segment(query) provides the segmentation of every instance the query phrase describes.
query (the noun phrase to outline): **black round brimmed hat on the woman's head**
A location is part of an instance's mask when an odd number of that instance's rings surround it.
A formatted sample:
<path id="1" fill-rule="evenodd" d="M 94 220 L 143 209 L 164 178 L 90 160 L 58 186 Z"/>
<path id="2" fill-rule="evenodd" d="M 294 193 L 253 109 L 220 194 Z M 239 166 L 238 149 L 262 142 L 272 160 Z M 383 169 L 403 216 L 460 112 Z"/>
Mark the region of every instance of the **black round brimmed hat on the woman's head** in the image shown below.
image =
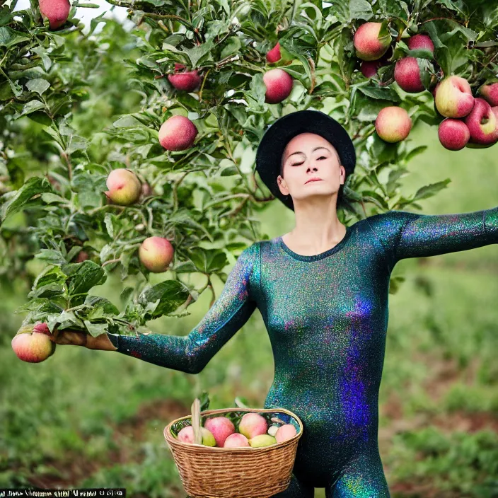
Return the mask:
<path id="1" fill-rule="evenodd" d="M 298 110 L 279 117 L 263 135 L 256 152 L 256 170 L 270 192 L 286 207 L 294 211 L 290 195 L 282 195 L 277 183 L 280 161 L 284 149 L 291 139 L 301 133 L 315 133 L 329 141 L 339 154 L 346 175 L 354 171 L 357 162 L 352 139 L 347 131 L 333 117 L 320 110 Z"/>

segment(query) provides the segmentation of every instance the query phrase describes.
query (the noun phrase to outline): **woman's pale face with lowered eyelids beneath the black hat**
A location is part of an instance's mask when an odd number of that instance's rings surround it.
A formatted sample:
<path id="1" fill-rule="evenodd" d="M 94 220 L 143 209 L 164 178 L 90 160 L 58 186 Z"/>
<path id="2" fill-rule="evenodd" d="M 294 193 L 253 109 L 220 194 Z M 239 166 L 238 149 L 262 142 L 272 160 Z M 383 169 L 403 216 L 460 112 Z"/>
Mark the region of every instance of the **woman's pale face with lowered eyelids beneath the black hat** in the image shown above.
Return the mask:
<path id="1" fill-rule="evenodd" d="M 337 194 L 346 170 L 335 148 L 320 135 L 301 133 L 291 139 L 282 155 L 282 173 L 277 178 L 280 192 L 296 204 L 313 196 Z M 311 178 L 320 181 L 310 182 Z"/>

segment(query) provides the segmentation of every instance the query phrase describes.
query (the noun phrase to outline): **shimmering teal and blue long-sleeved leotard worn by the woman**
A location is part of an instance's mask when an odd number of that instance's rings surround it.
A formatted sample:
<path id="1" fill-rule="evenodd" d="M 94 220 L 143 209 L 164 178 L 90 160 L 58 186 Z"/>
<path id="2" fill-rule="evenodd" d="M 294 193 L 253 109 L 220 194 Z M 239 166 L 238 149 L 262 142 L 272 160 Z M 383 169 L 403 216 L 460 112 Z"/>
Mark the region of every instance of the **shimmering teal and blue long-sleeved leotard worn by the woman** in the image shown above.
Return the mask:
<path id="1" fill-rule="evenodd" d="M 378 390 L 396 262 L 498 243 L 498 207 L 390 211 L 347 227 L 333 248 L 299 255 L 281 237 L 246 248 L 219 299 L 187 336 L 112 336 L 117 351 L 199 373 L 257 307 L 274 354 L 265 408 L 303 422 L 291 484 L 278 498 L 389 497 L 378 452 Z"/>

